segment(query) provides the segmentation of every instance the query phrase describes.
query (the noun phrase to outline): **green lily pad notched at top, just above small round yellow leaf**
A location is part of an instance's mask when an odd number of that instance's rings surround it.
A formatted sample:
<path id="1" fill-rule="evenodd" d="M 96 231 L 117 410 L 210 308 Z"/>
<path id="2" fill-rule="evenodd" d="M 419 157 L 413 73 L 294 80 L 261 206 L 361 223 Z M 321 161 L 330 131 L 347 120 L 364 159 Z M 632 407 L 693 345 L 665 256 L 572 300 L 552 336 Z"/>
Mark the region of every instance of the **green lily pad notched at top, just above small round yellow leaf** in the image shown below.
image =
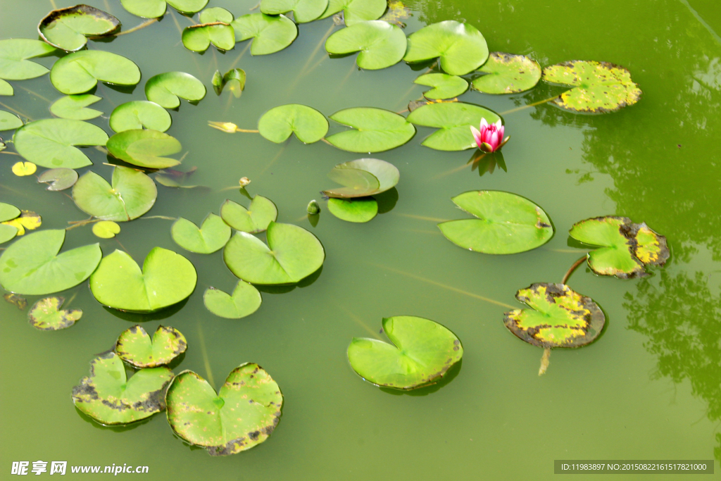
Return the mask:
<path id="1" fill-rule="evenodd" d="M 73 187 L 73 200 L 81 211 L 105 221 L 131 221 L 155 203 L 155 182 L 130 167 L 115 167 L 112 186 L 95 172 L 87 172 Z"/>

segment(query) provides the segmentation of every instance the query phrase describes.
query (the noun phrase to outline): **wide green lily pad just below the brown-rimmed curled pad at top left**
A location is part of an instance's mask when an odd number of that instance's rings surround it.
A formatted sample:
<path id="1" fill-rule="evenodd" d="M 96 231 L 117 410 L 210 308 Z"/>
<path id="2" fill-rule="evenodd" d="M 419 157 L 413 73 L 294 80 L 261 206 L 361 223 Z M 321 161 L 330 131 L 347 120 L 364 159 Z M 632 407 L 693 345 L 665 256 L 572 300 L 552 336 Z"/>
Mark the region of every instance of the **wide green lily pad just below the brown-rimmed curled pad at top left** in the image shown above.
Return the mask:
<path id="1" fill-rule="evenodd" d="M 103 50 L 80 50 L 56 61 L 50 81 L 66 95 L 84 94 L 98 81 L 116 85 L 136 85 L 140 69 L 123 56 Z"/>

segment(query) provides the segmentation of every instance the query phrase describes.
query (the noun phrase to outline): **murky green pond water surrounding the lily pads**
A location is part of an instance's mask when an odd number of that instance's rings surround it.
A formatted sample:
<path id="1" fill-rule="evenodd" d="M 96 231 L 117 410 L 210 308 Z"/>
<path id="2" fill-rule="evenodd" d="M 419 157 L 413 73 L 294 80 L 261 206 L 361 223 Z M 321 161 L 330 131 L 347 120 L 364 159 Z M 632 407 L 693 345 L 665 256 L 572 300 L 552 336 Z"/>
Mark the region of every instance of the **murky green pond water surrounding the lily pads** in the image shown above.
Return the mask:
<path id="1" fill-rule="evenodd" d="M 74 2 L 58 1 L 58 6 Z M 141 19 L 115 0 L 94 6 L 126 27 Z M 244 14 L 255 0 L 211 0 Z M 572 115 L 549 104 L 503 114 L 512 136 L 503 149 L 508 172 L 463 167 L 471 151 L 444 153 L 420 146 L 430 129 L 419 128 L 406 146 L 375 154 L 401 172 L 386 213 L 368 224 L 332 217 L 322 203 L 317 226 L 305 206 L 329 187 L 338 162 L 358 158 L 322 142 L 284 146 L 257 134 L 227 134 L 208 120 L 255 128 L 276 105 L 298 102 L 325 115 L 345 107 L 400 111 L 424 87 L 404 63 L 358 71 L 354 56 L 320 61 L 298 78 L 332 25 L 301 25 L 290 48 L 271 56 L 242 54 L 236 66 L 248 81 L 239 100 L 213 92 L 198 105 L 183 102 L 172 136 L 188 154 L 183 167 L 198 167 L 192 182 L 211 190 L 159 186 L 148 215 L 184 216 L 199 223 L 218 213 L 226 198 L 247 202 L 237 190 L 272 199 L 278 220 L 311 230 L 327 259 L 317 280 L 291 291 L 262 293 L 251 317 L 227 320 L 203 306 L 208 286 L 230 291 L 236 279 L 221 252 L 194 255 L 170 237 L 170 221 L 122 224 L 116 239 L 101 241 L 105 255 L 125 248 L 140 261 L 152 247 L 182 252 L 198 270 L 198 287 L 180 309 L 155 315 L 122 314 L 100 306 L 87 283 L 71 306 L 83 318 L 68 330 L 40 332 L 26 313 L 0 303 L 0 469 L 12 461 L 67 461 L 71 465 L 149 466 L 152 480 L 548 480 L 554 459 L 721 459 L 721 11 L 713 0 L 512 0 L 408 1 L 410 34 L 445 19 L 464 20 L 485 35 L 490 50 L 523 53 L 541 66 L 572 59 L 626 66 L 644 94 L 637 105 L 603 116 Z M 552 4 L 553 3 L 553 4 Z M 552 4 L 552 5 L 551 5 Z M 1 37 L 35 37 L 44 0 L 7 0 Z M 180 43 L 187 19 L 162 22 L 118 37 L 90 42 L 128 56 L 143 81 L 133 94 L 100 86 L 94 108 L 108 115 L 128 100 L 143 100 L 143 84 L 164 71 L 186 71 L 209 87 L 213 71 L 234 65 L 246 44 L 225 54 L 191 53 Z M 53 58 L 41 59 L 50 66 Z M 13 82 L 14 97 L 1 102 L 32 119 L 46 118 L 60 97 L 48 76 Z M 557 94 L 539 85 L 526 94 L 461 100 L 508 112 Z M 107 120 L 92 123 L 107 128 Z M 332 131 L 340 131 L 332 125 Z M 7 136 L 6 136 L 7 138 Z M 85 149 L 92 169 L 109 177 L 105 156 Z M 34 177 L 14 177 L 17 156 L 0 154 L 1 200 L 43 216 L 43 228 L 84 219 L 62 193 L 46 193 Z M 483 175 L 479 175 L 481 170 Z M 467 252 L 448 242 L 433 220 L 461 219 L 450 198 L 466 190 L 505 190 L 534 200 L 551 217 L 556 234 L 543 247 L 512 256 Z M 559 282 L 583 251 L 569 247 L 567 230 L 593 216 L 624 215 L 665 234 L 672 257 L 650 277 L 621 281 L 583 268 L 569 284 L 592 296 L 607 316 L 606 330 L 588 347 L 554 350 L 545 376 L 541 350 L 503 327 L 503 312 L 520 306 L 519 288 Z M 96 242 L 89 227 L 68 232 L 66 247 Z M 122 246 L 121 247 L 121 244 Z M 30 302 L 36 298 L 30 297 Z M 440 389 L 384 392 L 356 376 L 345 358 L 353 336 L 376 336 L 381 318 L 412 314 L 453 330 L 464 345 L 461 369 Z M 240 363 L 259 363 L 285 396 L 278 428 L 261 446 L 225 458 L 189 448 L 175 438 L 164 414 L 128 428 L 105 428 L 81 415 L 70 393 L 94 354 L 107 350 L 135 322 L 181 330 L 189 343 L 176 372 L 191 369 L 219 387 Z M 31 464 L 32 465 L 32 464 Z M 45 473 L 45 475 L 48 475 Z M 131 475 L 120 475 L 129 477 Z M 68 473 L 71 479 L 73 475 Z M 92 479 L 92 475 L 76 475 Z M 103 477 L 97 475 L 96 477 Z M 620 481 L 633 476 L 599 475 Z M 635 478 L 635 477 L 634 477 Z M 650 479 L 650 478 L 649 478 Z M 653 479 L 676 479 L 654 476 Z M 705 478 L 704 478 L 705 479 Z"/>

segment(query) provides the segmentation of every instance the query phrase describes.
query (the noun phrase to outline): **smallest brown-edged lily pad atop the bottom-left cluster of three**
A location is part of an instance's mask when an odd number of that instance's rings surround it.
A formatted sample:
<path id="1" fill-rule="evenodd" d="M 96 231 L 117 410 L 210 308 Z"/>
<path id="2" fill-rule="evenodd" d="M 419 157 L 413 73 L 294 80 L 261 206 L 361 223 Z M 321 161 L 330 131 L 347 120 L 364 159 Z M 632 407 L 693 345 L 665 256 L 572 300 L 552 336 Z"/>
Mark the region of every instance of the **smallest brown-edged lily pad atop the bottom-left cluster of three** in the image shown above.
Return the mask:
<path id="1" fill-rule="evenodd" d="M 115 353 L 135 368 L 156 368 L 169 364 L 185 353 L 187 341 L 177 329 L 158 326 L 153 339 L 140 325 L 123 331 L 115 343 Z"/>

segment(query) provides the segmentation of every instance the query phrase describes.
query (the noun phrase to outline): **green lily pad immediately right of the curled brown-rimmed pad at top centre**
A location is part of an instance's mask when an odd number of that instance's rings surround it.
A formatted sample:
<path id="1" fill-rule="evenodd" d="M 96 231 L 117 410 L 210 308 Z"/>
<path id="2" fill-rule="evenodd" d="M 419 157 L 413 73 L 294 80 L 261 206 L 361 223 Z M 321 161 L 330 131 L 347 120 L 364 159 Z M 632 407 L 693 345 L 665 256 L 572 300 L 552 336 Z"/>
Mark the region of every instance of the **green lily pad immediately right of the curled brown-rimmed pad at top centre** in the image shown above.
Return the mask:
<path id="1" fill-rule="evenodd" d="M 250 45 L 252 55 L 267 55 L 288 47 L 298 36 L 298 27 L 285 15 L 271 17 L 255 13 L 234 19 L 235 39 L 242 42 L 253 39 Z"/>

